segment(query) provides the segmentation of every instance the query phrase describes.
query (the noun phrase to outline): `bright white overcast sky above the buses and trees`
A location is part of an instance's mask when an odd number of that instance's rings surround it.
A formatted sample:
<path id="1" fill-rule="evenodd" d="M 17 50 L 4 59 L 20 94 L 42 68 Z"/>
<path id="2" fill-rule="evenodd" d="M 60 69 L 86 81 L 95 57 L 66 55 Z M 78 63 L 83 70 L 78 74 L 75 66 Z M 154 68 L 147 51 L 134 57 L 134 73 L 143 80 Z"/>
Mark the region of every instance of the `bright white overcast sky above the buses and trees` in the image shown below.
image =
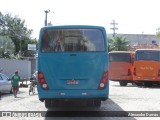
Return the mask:
<path id="1" fill-rule="evenodd" d="M 45 12 L 53 25 L 101 25 L 112 33 L 115 20 L 119 34 L 156 34 L 160 27 L 159 0 L 0 0 L 0 11 L 18 15 L 38 38 Z"/>

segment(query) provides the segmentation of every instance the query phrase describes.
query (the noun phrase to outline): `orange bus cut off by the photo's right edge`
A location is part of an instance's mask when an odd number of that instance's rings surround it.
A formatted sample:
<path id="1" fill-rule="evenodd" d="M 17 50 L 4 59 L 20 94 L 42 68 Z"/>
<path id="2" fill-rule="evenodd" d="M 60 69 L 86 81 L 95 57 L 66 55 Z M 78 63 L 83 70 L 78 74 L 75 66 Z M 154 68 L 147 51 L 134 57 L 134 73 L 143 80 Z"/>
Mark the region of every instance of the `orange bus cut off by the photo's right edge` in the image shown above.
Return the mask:
<path id="1" fill-rule="evenodd" d="M 135 51 L 133 80 L 137 85 L 152 86 L 160 82 L 160 51 L 138 49 Z"/>

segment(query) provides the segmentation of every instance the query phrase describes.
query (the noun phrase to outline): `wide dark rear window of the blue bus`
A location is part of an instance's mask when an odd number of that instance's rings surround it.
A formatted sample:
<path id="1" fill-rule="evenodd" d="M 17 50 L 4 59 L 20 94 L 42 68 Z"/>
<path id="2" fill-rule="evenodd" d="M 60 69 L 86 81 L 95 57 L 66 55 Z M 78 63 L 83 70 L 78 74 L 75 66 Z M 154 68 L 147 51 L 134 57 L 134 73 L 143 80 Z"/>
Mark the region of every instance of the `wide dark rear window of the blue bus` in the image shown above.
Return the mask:
<path id="1" fill-rule="evenodd" d="M 46 29 L 42 31 L 41 52 L 105 51 L 99 29 Z"/>

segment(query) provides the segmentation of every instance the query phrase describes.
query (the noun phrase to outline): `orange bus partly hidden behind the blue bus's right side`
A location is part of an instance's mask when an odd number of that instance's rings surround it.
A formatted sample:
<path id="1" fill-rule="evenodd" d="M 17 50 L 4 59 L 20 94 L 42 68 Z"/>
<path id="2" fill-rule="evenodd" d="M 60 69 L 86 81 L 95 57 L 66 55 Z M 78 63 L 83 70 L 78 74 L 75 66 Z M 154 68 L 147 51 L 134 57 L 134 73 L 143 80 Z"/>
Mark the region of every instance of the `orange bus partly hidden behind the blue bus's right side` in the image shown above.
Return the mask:
<path id="1" fill-rule="evenodd" d="M 109 52 L 109 80 L 118 81 L 120 86 L 133 83 L 133 58 L 131 51 Z"/>

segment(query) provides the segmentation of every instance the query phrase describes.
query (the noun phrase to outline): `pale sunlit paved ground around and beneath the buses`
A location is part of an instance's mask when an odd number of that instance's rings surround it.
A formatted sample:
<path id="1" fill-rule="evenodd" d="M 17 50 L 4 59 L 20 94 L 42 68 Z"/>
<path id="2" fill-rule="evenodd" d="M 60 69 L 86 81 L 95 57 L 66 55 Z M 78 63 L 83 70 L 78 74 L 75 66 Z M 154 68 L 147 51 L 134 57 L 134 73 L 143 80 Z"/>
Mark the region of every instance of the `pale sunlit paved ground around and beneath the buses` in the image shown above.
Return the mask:
<path id="1" fill-rule="evenodd" d="M 38 100 L 37 93 L 35 95 L 28 94 L 29 88 L 20 88 L 18 98 L 14 98 L 12 94 L 5 94 L 0 100 L 0 111 L 45 111 L 46 116 L 49 111 L 160 111 L 160 89 L 158 86 L 152 88 L 142 88 L 129 84 L 126 87 L 119 86 L 118 82 L 110 82 L 110 98 L 102 102 L 101 108 L 77 108 L 75 106 L 67 108 L 46 109 L 43 102 Z M 64 113 L 64 112 L 63 112 Z M 102 113 L 102 112 L 101 112 Z M 61 113 L 62 114 L 62 113 Z M 69 113 L 72 115 L 72 113 Z M 82 112 L 78 113 L 84 116 Z M 159 114 L 160 116 L 160 114 Z M 1 118 L 0 118 L 1 119 Z M 6 119 L 6 118 L 3 118 Z M 11 119 L 11 118 L 7 118 Z M 13 118 L 12 118 L 13 119 Z M 35 117 L 15 117 L 15 119 L 37 119 Z M 40 117 L 38 119 L 51 119 L 48 117 Z M 56 117 L 56 119 L 75 119 L 75 117 Z M 92 119 L 151 119 L 151 117 L 77 117 L 78 120 Z M 152 119 L 158 119 L 154 117 Z M 159 118 L 160 119 L 160 118 Z"/>

